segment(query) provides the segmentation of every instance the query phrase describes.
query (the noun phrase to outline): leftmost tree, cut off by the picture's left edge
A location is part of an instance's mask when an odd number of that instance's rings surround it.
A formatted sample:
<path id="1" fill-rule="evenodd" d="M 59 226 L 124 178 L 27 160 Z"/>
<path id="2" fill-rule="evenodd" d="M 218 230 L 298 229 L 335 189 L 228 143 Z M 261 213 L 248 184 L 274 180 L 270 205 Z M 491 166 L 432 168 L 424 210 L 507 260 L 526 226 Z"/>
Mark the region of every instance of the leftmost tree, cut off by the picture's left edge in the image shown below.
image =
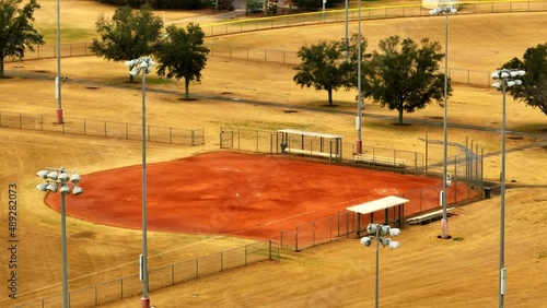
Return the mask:
<path id="1" fill-rule="evenodd" d="M 33 25 L 34 11 L 40 5 L 31 0 L 23 9 L 22 0 L 0 1 L 0 78 L 4 76 L 7 57 L 23 58 L 25 50 L 34 51 L 34 45 L 44 45 L 44 36 Z"/>

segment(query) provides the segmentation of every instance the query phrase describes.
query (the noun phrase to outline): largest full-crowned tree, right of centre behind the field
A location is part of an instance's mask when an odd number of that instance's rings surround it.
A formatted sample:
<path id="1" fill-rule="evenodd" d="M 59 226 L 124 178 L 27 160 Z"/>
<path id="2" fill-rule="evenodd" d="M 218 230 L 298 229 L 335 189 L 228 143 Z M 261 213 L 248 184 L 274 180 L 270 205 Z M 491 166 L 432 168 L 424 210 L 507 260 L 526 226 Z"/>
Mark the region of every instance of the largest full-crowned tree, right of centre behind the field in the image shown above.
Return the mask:
<path id="1" fill-rule="evenodd" d="M 364 97 L 397 110 L 399 125 L 405 111 L 421 109 L 432 99 L 443 104 L 444 73 L 438 71 L 444 55 L 438 42 L 423 38 L 420 43 L 418 47 L 411 38 L 400 42 L 399 36 L 381 40 L 380 52 L 374 50 L 363 69 Z M 447 95 L 452 95 L 450 79 Z"/>

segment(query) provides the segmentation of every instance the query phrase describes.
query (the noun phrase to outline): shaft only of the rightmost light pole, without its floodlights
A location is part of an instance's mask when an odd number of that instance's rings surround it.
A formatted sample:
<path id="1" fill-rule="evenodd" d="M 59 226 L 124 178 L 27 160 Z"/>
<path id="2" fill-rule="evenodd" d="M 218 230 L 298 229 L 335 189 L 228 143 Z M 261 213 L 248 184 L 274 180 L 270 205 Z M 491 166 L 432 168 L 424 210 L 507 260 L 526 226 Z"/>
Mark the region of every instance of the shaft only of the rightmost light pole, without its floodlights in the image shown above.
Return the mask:
<path id="1" fill-rule="evenodd" d="M 503 116 L 501 123 L 501 205 L 500 205 L 500 307 L 503 308 L 503 296 L 505 295 L 505 84 L 502 79 L 503 90 Z"/>

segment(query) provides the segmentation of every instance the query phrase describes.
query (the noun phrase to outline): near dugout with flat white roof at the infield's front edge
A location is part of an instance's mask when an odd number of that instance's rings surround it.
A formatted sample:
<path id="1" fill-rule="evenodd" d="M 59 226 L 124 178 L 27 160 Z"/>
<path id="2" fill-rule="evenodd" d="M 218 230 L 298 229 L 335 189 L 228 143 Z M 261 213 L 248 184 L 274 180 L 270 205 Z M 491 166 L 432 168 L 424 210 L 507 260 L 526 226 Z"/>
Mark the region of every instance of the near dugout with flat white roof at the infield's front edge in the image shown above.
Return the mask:
<path id="1" fill-rule="evenodd" d="M 384 213 L 383 224 L 387 225 L 391 222 L 398 222 L 398 226 L 403 227 L 405 222 L 405 203 L 410 202 L 408 199 L 388 196 L 373 201 L 364 202 L 358 205 L 349 206 L 346 210 L 357 213 L 356 230 L 357 236 L 361 236 L 361 215 L 370 215 L 370 223 L 374 224 L 374 213 L 382 210 Z M 389 209 L 393 209 L 389 215 Z M 389 220 L 389 217 L 392 217 Z"/>

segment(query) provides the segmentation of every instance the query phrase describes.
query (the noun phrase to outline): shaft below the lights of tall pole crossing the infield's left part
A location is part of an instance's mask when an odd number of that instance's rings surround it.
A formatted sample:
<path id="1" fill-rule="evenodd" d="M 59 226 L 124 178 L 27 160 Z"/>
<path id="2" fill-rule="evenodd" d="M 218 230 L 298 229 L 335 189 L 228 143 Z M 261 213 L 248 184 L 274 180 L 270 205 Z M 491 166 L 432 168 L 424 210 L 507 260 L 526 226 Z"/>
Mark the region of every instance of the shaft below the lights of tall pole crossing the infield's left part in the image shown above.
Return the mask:
<path id="1" fill-rule="evenodd" d="M 142 308 L 150 308 L 148 297 L 148 247 L 147 247 L 147 68 L 142 68 Z M 148 63 L 147 63 L 148 66 Z"/>

